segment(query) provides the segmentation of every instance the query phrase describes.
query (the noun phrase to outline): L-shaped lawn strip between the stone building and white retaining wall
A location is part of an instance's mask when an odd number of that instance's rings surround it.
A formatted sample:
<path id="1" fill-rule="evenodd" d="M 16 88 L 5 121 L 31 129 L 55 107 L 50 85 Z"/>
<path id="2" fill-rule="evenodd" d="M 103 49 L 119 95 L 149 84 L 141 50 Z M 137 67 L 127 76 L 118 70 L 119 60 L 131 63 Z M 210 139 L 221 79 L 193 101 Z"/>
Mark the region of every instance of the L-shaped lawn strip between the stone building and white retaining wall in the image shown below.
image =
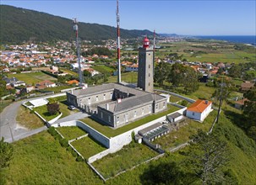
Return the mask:
<path id="1" fill-rule="evenodd" d="M 136 127 L 139 127 L 142 124 L 146 124 L 150 121 L 153 121 L 155 119 L 161 118 L 162 116 L 165 116 L 166 114 L 171 114 L 173 112 L 175 112 L 176 110 L 178 110 L 179 108 L 174 107 L 174 106 L 170 106 L 170 108 L 164 112 L 161 112 L 159 114 L 152 114 L 149 115 L 147 117 L 145 117 L 144 119 L 139 119 L 137 121 L 134 121 L 131 124 L 127 124 L 124 125 L 123 127 L 120 127 L 118 129 L 112 129 L 106 125 L 100 124 L 98 122 L 96 122 L 95 120 L 89 118 L 85 118 L 85 119 L 80 119 L 81 121 L 84 122 L 84 124 L 88 124 L 90 125 L 92 128 L 98 130 L 99 132 L 101 132 L 101 134 L 106 135 L 107 137 L 114 137 L 116 135 L 120 135 L 130 129 L 134 129 Z"/>

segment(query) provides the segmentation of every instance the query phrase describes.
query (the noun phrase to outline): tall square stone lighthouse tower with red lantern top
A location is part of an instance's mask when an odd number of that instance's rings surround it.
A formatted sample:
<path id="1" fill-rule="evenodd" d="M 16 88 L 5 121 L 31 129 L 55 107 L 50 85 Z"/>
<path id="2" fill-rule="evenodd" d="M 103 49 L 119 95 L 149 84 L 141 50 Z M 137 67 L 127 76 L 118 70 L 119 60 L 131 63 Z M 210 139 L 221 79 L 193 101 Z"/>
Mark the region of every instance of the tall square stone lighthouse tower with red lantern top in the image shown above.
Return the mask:
<path id="1" fill-rule="evenodd" d="M 146 92 L 154 91 L 153 71 L 153 48 L 150 47 L 150 40 L 145 37 L 143 47 L 139 48 L 138 87 Z"/>

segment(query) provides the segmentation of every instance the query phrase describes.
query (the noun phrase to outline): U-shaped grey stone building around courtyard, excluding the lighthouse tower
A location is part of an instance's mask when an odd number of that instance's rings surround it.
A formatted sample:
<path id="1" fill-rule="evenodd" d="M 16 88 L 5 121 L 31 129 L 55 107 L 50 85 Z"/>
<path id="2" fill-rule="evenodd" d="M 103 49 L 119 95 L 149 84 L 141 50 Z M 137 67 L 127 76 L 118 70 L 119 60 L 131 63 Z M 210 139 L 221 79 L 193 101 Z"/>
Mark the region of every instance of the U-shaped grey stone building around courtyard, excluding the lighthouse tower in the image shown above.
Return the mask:
<path id="1" fill-rule="evenodd" d="M 165 97 L 116 83 L 67 92 L 67 99 L 115 128 L 167 108 Z"/>

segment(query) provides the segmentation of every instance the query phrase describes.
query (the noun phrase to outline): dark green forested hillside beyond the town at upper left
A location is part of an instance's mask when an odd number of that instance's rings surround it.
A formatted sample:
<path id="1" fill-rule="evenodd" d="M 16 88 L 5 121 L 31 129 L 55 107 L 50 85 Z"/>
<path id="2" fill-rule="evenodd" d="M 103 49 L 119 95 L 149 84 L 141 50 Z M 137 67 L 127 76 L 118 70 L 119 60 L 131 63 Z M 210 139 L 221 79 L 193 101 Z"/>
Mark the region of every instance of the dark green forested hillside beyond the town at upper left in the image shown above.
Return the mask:
<path id="1" fill-rule="evenodd" d="M 74 40 L 73 21 L 68 18 L 7 5 L 0 5 L 0 18 L 0 40 L 3 43 L 17 43 L 24 40 Z M 121 29 L 120 31 L 121 37 L 126 39 L 153 34 L 149 30 Z M 79 23 L 81 40 L 114 39 L 116 35 L 115 27 Z"/>

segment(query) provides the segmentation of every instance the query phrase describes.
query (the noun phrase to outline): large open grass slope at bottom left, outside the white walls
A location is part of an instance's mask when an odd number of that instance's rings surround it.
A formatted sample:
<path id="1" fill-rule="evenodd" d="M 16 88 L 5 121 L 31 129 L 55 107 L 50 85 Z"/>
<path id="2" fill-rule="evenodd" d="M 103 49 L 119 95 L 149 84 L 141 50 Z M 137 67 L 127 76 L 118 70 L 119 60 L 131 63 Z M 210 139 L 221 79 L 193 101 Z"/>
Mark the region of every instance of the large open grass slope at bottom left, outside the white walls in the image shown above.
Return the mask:
<path id="1" fill-rule="evenodd" d="M 103 184 L 84 162 L 47 131 L 16 141 L 10 166 L 0 170 L 0 184 Z"/>

